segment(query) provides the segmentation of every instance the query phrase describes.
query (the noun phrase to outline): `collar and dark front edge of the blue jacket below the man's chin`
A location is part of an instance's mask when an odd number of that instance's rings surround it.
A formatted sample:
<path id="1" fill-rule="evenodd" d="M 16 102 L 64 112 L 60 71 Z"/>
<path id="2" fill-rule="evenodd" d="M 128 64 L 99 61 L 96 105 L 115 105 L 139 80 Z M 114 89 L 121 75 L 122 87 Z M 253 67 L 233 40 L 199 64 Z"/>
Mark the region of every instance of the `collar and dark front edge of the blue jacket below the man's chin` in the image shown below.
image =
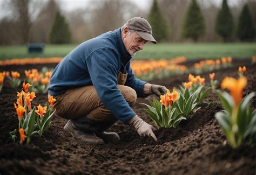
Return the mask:
<path id="1" fill-rule="evenodd" d="M 124 42 L 123 42 L 122 36 L 121 36 L 121 28 L 114 30 L 113 32 L 114 32 L 114 35 L 116 36 L 117 49 L 121 55 L 122 62 L 124 63 L 126 61 L 129 61 L 132 57 L 129 54 L 129 52 L 126 51 L 126 48 L 124 46 Z"/>

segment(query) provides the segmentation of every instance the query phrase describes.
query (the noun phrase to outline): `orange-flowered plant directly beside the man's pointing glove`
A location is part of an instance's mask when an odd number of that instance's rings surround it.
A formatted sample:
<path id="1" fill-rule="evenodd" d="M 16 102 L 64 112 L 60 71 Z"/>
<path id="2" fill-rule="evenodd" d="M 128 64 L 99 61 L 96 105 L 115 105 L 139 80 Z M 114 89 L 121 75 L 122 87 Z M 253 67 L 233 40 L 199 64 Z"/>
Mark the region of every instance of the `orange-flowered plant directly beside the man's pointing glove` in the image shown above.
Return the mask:
<path id="1" fill-rule="evenodd" d="M 148 108 L 145 110 L 150 115 L 150 118 L 157 128 L 175 128 L 181 120 L 186 120 L 186 118 L 173 107 L 173 104 L 176 103 L 178 98 L 179 93 L 175 89 L 173 89 L 172 93 L 170 93 L 168 89 L 166 94 L 160 96 L 160 101 L 154 98 L 153 101 L 150 101 L 150 105 L 143 103 Z"/>

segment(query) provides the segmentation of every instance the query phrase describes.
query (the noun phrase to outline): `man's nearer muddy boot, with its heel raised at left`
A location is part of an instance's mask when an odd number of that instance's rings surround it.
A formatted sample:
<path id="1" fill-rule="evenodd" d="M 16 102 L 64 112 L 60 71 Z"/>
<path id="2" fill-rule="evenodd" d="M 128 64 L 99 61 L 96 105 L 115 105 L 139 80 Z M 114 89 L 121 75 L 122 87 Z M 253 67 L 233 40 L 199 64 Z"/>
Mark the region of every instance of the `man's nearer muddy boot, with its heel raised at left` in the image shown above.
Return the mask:
<path id="1" fill-rule="evenodd" d="M 82 140 L 84 143 L 88 144 L 103 144 L 103 139 L 97 137 L 94 132 L 83 132 L 78 130 L 75 125 L 73 125 L 72 121 L 69 120 L 66 125 L 64 126 L 64 130 L 66 132 L 70 132 L 70 134 L 77 138 Z"/>

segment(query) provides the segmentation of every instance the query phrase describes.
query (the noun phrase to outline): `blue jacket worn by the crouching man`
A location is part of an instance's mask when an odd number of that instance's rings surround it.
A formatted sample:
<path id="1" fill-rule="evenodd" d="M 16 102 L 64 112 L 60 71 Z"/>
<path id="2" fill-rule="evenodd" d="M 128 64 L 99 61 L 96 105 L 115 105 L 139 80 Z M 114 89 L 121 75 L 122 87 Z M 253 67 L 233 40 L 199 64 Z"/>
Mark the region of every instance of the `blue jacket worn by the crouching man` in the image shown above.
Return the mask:
<path id="1" fill-rule="evenodd" d="M 131 55 L 126 51 L 121 29 L 85 41 L 59 62 L 50 79 L 49 94 L 59 95 L 75 87 L 93 85 L 104 105 L 120 121 L 129 121 L 136 114 L 117 88 L 119 71 L 128 73 L 125 86 L 145 97 L 145 81 L 134 77 Z"/>

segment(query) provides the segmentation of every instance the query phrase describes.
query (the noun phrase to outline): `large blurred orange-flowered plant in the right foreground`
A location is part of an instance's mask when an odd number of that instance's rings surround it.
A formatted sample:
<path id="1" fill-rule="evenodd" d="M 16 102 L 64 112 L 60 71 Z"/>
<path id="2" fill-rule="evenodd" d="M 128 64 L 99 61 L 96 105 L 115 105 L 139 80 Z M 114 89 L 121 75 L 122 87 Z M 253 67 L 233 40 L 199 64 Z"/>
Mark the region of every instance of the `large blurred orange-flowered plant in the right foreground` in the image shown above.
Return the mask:
<path id="1" fill-rule="evenodd" d="M 251 109 L 251 99 L 255 93 L 250 93 L 242 98 L 242 90 L 247 84 L 245 76 L 238 80 L 226 77 L 221 82 L 221 88 L 230 90 L 230 94 L 217 90 L 217 94 L 224 108 L 215 114 L 221 128 L 232 148 L 237 148 L 245 141 L 256 139 L 256 110 Z"/>

